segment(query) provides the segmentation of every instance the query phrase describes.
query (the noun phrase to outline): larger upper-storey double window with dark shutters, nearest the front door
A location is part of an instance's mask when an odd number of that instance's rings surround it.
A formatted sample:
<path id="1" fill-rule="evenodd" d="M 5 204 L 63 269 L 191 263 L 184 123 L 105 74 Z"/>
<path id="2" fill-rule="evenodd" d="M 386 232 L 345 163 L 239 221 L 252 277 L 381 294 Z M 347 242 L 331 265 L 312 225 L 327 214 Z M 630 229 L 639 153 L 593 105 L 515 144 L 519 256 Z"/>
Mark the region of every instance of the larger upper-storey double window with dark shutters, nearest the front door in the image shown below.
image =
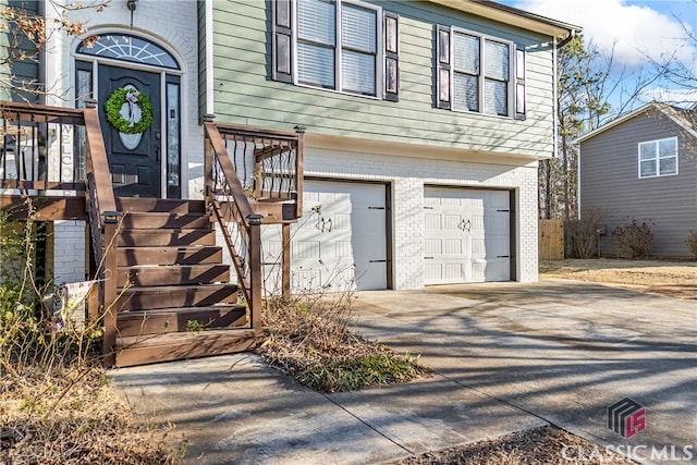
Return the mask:
<path id="1" fill-rule="evenodd" d="M 348 0 L 272 5 L 274 79 L 398 100 L 398 15 Z"/>

